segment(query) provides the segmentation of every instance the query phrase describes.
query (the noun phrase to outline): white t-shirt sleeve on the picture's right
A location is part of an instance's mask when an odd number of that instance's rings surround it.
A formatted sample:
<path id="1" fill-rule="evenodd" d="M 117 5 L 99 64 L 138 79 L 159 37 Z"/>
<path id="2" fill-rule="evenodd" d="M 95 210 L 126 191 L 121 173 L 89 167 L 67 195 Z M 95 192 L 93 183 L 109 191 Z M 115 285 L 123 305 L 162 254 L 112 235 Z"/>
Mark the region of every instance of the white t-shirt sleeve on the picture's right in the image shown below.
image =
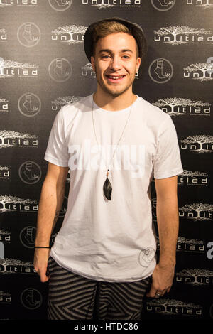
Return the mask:
<path id="1" fill-rule="evenodd" d="M 154 178 L 169 178 L 183 172 L 178 136 L 171 117 L 160 129 L 158 147 L 153 159 Z"/>

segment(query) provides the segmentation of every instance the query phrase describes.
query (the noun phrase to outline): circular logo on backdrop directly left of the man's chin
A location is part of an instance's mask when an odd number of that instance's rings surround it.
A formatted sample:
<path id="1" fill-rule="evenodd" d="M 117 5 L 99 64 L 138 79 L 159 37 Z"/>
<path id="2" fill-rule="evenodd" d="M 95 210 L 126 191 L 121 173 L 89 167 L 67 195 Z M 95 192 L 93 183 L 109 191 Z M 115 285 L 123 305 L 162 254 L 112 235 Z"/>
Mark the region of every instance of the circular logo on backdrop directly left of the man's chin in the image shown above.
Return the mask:
<path id="1" fill-rule="evenodd" d="M 65 58 L 55 58 L 48 67 L 50 77 L 57 81 L 63 82 L 70 79 L 72 75 L 72 65 Z"/>

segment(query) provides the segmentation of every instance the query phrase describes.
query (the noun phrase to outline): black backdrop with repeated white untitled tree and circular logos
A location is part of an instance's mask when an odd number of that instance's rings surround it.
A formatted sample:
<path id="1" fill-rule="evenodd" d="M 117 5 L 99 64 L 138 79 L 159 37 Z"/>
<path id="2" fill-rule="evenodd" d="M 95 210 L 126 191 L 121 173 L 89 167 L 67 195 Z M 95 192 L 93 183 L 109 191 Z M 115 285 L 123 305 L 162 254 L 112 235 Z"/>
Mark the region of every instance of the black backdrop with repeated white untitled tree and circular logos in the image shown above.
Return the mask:
<path id="1" fill-rule="evenodd" d="M 48 283 L 33 269 L 43 156 L 60 107 L 96 90 L 84 32 L 112 16 L 143 27 L 148 55 L 133 90 L 172 117 L 184 169 L 173 289 L 147 299 L 143 317 L 213 319 L 213 0 L 1 0 L 0 320 L 46 318 Z"/>

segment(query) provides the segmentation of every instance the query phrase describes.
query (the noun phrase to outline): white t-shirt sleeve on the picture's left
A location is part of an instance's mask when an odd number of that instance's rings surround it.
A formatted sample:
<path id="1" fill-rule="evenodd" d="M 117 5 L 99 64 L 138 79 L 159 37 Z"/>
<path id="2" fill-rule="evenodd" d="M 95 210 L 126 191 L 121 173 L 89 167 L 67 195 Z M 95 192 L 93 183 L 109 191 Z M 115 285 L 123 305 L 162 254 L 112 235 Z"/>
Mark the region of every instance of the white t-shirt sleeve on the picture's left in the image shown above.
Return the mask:
<path id="1" fill-rule="evenodd" d="M 63 108 L 60 109 L 53 122 L 44 158 L 57 166 L 68 167 L 69 155 L 65 141 Z"/>

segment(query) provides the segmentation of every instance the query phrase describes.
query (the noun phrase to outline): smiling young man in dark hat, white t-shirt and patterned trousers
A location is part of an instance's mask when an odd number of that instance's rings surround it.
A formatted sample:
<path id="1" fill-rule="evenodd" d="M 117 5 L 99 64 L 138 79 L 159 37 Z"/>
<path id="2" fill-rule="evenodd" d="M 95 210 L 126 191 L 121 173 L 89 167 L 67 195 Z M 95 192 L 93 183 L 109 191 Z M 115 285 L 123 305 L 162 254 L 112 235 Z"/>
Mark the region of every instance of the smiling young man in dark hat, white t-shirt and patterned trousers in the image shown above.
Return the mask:
<path id="1" fill-rule="evenodd" d="M 168 114 L 133 94 L 146 53 L 141 27 L 120 18 L 93 23 L 85 33 L 84 50 L 96 72 L 97 91 L 65 105 L 55 118 L 45 153 L 49 163 L 34 266 L 41 281 L 50 279 L 49 319 L 140 319 L 146 293 L 159 298 L 173 283 L 177 176 L 182 173 L 177 134 Z M 69 169 L 67 212 L 50 252 L 45 247 Z"/>

